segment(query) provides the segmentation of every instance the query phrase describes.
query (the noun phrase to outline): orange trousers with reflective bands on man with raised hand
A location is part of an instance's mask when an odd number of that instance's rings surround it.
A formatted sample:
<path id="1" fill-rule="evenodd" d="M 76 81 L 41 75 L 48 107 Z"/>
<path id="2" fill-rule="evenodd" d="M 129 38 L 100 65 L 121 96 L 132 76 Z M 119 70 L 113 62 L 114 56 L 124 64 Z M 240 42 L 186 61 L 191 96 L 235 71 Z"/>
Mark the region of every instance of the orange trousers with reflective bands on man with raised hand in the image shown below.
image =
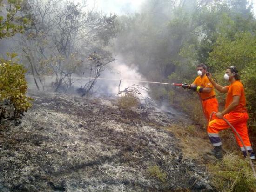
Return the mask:
<path id="1" fill-rule="evenodd" d="M 252 152 L 252 147 L 251 147 L 251 143 L 250 143 L 248 131 L 247 131 L 247 126 L 246 126 L 248 114 L 246 112 L 245 113 L 231 112 L 231 113 L 224 115 L 224 118 L 226 118 L 229 121 L 229 123 L 231 123 L 231 125 L 234 126 L 236 131 L 239 133 L 240 137 L 243 140 L 244 145 L 246 146 L 246 149 L 249 152 Z M 221 131 L 223 129 L 228 129 L 228 128 L 229 128 L 229 125 L 223 119 L 214 119 L 209 122 L 208 127 L 207 127 L 207 132 L 208 132 L 209 139 L 213 146 L 222 145 L 221 139 L 219 137 L 219 131 Z M 240 139 L 237 137 L 236 134 L 235 134 L 235 136 L 236 136 L 238 145 L 240 146 L 241 150 L 245 153 L 245 149 L 242 145 L 242 142 L 240 141 Z M 254 157 L 254 153 L 253 153 L 253 157 Z"/>

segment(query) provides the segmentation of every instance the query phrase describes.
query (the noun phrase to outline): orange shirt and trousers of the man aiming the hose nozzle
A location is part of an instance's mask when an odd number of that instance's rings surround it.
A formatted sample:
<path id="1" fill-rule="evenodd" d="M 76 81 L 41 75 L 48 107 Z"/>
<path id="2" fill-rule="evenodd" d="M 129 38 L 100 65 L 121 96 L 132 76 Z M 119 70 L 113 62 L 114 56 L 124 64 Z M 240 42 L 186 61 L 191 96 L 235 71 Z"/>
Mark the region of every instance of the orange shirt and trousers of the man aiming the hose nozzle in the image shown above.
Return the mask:
<path id="1" fill-rule="evenodd" d="M 202 88 L 204 87 L 212 88 L 210 93 L 199 93 L 202 99 L 203 113 L 206 119 L 209 121 L 211 113 L 213 111 L 218 112 L 218 101 L 215 97 L 215 91 L 214 91 L 213 85 L 211 84 L 211 82 L 209 81 L 206 75 L 198 76 L 193 82 L 193 84 L 196 86 L 201 86 Z M 212 119 L 216 119 L 215 114 L 212 116 Z"/>

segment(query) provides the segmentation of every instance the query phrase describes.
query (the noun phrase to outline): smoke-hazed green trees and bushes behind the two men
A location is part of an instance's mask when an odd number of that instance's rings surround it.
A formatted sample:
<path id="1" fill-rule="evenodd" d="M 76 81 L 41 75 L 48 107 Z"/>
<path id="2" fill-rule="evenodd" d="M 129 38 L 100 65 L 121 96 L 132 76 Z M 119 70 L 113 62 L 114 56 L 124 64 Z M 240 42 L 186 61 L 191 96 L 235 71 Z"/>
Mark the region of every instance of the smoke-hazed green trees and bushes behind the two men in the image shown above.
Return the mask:
<path id="1" fill-rule="evenodd" d="M 148 1 L 141 13 L 119 17 L 116 52 L 127 63 L 137 63 L 151 81 L 191 83 L 196 65 L 205 62 L 218 83 L 227 85 L 224 70 L 227 66 L 238 67 L 246 90 L 249 125 L 253 127 L 256 18 L 252 6 L 248 0 L 198 2 Z M 194 102 L 198 100 L 196 95 L 171 86 L 150 87 L 154 99 L 168 99 L 172 105 L 193 113 L 192 119 L 204 122 L 201 105 Z M 216 95 L 222 110 L 226 95 L 217 91 Z"/>

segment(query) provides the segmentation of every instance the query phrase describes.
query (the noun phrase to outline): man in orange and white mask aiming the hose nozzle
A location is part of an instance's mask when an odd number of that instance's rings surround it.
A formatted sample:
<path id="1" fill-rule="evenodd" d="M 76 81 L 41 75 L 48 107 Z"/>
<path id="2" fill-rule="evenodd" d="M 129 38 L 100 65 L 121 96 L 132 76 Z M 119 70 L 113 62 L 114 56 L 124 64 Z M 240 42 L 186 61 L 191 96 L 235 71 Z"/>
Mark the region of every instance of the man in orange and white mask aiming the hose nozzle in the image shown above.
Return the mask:
<path id="1" fill-rule="evenodd" d="M 185 84 L 183 88 L 188 88 L 199 93 L 200 99 L 202 100 L 202 108 L 207 123 L 210 119 L 210 115 L 213 111 L 218 112 L 218 101 L 215 96 L 214 88 L 206 77 L 207 67 L 201 63 L 197 66 L 197 74 L 195 81 L 189 85 Z M 212 119 L 216 119 L 216 115 L 213 115 Z"/>

